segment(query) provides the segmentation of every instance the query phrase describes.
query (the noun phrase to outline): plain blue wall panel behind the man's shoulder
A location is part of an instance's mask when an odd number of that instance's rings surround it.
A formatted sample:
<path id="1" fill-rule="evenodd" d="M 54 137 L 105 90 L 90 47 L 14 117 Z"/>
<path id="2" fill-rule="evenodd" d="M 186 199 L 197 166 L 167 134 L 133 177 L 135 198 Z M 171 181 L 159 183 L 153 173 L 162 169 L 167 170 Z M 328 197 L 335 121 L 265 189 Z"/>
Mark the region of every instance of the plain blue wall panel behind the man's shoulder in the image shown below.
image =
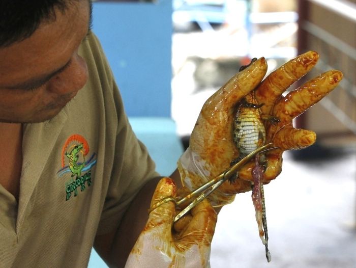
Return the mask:
<path id="1" fill-rule="evenodd" d="M 170 117 L 172 2 L 96 2 L 93 31 L 129 116 Z"/>

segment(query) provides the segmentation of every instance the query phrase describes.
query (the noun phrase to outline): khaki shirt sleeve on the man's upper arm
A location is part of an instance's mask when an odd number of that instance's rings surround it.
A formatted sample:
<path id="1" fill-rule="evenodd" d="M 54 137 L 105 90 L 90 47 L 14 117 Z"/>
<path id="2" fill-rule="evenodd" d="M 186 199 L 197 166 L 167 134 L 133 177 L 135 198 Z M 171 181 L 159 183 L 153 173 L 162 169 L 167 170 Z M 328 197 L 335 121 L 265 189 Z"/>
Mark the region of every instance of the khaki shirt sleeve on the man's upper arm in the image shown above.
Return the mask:
<path id="1" fill-rule="evenodd" d="M 136 138 L 124 113 L 121 113 L 119 121 L 112 176 L 97 234 L 117 229 L 141 187 L 159 176 L 155 172 L 155 163 L 146 147 Z"/>

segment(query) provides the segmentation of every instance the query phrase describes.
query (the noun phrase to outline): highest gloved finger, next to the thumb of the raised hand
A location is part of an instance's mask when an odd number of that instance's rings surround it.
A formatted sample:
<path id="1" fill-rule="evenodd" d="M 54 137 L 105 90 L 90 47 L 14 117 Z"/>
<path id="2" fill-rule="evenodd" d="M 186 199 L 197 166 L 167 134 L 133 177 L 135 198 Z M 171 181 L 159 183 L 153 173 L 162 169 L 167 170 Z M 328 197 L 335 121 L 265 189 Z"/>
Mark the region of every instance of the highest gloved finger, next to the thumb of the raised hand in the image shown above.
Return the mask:
<path id="1" fill-rule="evenodd" d="M 262 114 L 269 115 L 276 99 L 294 82 L 308 73 L 315 66 L 318 59 L 317 52 L 308 51 L 269 74 L 255 92 L 255 98 L 258 103 L 264 103 L 260 108 Z"/>

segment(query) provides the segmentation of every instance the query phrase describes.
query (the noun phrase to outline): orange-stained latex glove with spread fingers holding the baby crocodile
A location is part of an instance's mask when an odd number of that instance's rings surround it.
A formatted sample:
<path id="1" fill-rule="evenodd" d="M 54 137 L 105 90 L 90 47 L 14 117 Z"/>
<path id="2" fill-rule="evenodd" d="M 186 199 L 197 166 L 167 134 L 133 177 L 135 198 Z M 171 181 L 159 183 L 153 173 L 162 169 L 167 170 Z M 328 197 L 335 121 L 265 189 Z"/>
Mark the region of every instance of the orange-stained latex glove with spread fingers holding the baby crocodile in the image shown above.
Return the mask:
<path id="1" fill-rule="evenodd" d="M 336 70 L 325 72 L 285 97 L 281 94 L 308 73 L 317 60 L 317 52 L 306 52 L 272 72 L 261 83 L 267 64 L 264 58 L 260 58 L 235 74 L 213 94 L 204 103 L 192 131 L 189 148 L 177 163 L 183 185 L 190 191 L 196 189 L 229 168 L 231 161 L 239 156 L 239 150 L 232 140 L 234 110 L 236 104 L 250 92 L 258 103 L 264 103 L 260 108 L 262 115 L 280 120 L 275 125 L 268 120 L 263 122 L 266 143 L 273 142 L 274 146 L 280 147 L 266 153 L 264 183 L 280 174 L 283 151 L 312 145 L 316 139 L 315 133 L 293 128 L 292 120 L 332 91 L 342 79 L 342 73 Z M 239 171 L 240 179 L 223 183 L 209 197 L 212 205 L 230 203 L 236 193 L 250 191 L 253 166 L 252 160 Z"/>

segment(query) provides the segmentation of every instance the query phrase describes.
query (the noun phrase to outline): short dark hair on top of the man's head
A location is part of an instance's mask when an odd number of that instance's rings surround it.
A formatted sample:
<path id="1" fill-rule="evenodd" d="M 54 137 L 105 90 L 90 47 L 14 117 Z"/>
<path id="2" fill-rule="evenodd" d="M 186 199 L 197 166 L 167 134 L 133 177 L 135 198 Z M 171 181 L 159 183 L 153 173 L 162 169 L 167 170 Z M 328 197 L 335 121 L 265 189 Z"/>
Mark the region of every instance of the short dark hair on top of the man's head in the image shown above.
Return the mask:
<path id="1" fill-rule="evenodd" d="M 0 0 L 0 47 L 30 37 L 42 22 L 55 20 L 74 0 Z"/>

